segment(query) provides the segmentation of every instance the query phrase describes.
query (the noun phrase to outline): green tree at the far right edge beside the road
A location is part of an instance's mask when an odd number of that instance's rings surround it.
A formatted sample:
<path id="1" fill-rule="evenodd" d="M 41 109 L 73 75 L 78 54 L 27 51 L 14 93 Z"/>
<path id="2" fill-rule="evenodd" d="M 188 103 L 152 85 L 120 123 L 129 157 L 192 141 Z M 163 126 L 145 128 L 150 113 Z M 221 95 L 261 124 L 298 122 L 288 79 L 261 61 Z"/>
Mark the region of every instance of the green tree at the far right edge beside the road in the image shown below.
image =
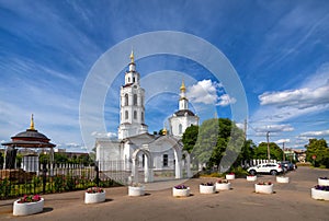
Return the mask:
<path id="1" fill-rule="evenodd" d="M 329 168 L 329 149 L 325 139 L 309 139 L 308 144 L 305 146 L 306 160 L 311 162 L 314 166 L 326 166 Z M 313 155 L 316 159 L 313 160 Z"/>

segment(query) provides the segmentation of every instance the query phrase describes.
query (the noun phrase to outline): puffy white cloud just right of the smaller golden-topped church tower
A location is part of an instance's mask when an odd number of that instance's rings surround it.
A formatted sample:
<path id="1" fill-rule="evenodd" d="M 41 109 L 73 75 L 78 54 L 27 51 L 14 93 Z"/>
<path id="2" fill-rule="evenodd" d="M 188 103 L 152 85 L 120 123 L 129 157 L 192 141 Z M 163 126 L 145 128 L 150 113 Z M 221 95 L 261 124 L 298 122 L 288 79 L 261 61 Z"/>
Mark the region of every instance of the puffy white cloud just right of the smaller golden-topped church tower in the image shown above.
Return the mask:
<path id="1" fill-rule="evenodd" d="M 228 94 L 218 96 L 218 92 L 223 91 L 223 85 L 212 80 L 202 80 L 189 88 L 186 96 L 194 103 L 215 104 L 219 106 L 227 106 L 236 103 L 235 97 Z"/>

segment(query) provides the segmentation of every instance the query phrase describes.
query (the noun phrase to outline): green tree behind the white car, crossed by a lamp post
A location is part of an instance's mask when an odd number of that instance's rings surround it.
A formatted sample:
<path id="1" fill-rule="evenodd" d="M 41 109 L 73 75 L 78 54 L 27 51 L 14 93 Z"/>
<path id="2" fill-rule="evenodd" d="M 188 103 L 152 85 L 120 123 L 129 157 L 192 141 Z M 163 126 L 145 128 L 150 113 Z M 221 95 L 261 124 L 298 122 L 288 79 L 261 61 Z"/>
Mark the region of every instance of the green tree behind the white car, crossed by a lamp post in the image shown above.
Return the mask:
<path id="1" fill-rule="evenodd" d="M 275 143 L 270 142 L 270 155 L 272 160 L 282 160 L 283 151 L 282 149 Z M 253 158 L 254 159 L 268 159 L 268 143 L 261 142 L 257 148 L 253 149 Z"/>

